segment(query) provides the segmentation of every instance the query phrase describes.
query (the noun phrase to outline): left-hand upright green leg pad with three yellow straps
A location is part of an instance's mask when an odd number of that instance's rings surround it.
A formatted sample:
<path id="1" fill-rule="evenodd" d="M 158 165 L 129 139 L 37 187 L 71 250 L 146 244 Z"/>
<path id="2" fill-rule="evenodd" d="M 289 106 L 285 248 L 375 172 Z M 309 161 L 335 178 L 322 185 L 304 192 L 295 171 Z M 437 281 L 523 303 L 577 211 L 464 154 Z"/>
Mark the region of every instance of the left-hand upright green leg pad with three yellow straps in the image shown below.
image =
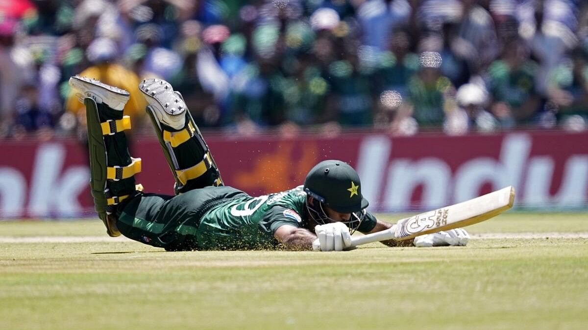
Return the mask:
<path id="1" fill-rule="evenodd" d="M 86 120 L 91 171 L 91 192 L 99 218 L 112 237 L 121 235 L 112 216 L 115 207 L 136 193 L 134 175 L 141 171 L 141 159 L 129 155 L 126 136 L 131 128 L 128 116 L 86 97 Z"/>

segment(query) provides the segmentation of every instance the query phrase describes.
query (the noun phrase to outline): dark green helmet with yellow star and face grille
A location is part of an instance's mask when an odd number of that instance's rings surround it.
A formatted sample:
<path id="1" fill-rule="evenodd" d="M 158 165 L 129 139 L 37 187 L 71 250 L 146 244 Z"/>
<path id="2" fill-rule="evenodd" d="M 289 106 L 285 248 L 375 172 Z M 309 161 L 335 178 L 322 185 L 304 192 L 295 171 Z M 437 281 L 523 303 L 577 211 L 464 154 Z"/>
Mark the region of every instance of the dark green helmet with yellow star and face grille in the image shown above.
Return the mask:
<path id="1" fill-rule="evenodd" d="M 369 205 L 362 196 L 358 173 L 340 160 L 325 160 L 316 164 L 306 176 L 304 191 L 313 198 L 312 203 L 307 203 L 310 216 L 322 224 L 335 221 L 326 215 L 324 206 L 327 206 L 338 213 L 352 214 L 349 221 L 341 222 L 356 229 Z"/>

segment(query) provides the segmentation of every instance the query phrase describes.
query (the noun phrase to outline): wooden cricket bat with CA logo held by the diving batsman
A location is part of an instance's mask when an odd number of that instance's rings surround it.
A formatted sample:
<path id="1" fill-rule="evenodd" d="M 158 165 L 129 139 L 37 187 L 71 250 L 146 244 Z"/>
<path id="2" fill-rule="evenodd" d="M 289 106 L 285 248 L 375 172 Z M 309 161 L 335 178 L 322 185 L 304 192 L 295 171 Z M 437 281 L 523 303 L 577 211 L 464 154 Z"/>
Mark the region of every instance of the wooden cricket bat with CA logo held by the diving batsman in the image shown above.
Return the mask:
<path id="1" fill-rule="evenodd" d="M 386 240 L 410 240 L 420 235 L 465 227 L 496 217 L 513 207 L 513 203 L 515 188 L 509 186 L 462 203 L 402 219 L 388 230 L 352 237 L 351 245 L 355 247 Z"/>

